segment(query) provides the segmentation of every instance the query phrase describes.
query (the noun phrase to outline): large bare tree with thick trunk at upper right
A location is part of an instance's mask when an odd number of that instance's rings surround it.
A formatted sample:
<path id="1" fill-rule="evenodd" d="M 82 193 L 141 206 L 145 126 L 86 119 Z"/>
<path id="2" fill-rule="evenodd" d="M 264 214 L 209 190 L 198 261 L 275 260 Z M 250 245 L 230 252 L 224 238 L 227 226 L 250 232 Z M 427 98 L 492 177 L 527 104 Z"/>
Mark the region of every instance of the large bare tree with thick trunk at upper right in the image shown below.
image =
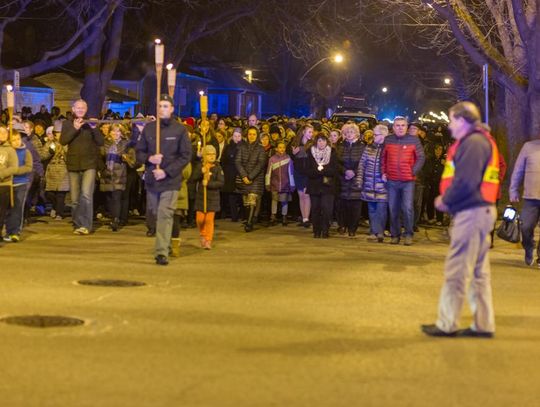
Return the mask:
<path id="1" fill-rule="evenodd" d="M 504 92 L 511 159 L 523 141 L 540 134 L 540 2 L 374 0 L 363 7 L 384 10 L 381 14 L 392 19 L 387 30 L 393 38 L 412 28 L 415 41 L 429 41 L 439 55 L 452 56 L 460 49 L 477 66 L 489 64 Z"/>

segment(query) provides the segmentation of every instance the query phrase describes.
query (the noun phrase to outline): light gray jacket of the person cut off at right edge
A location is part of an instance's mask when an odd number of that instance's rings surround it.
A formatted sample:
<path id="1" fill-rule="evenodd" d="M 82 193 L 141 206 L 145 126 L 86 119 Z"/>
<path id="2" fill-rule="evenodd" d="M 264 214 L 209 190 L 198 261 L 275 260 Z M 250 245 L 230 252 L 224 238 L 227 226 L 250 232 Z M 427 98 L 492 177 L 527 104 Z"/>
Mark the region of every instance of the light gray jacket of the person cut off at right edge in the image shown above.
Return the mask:
<path id="1" fill-rule="evenodd" d="M 519 152 L 512 179 L 510 196 L 519 196 L 523 181 L 523 198 L 540 199 L 540 140 L 526 142 Z"/>

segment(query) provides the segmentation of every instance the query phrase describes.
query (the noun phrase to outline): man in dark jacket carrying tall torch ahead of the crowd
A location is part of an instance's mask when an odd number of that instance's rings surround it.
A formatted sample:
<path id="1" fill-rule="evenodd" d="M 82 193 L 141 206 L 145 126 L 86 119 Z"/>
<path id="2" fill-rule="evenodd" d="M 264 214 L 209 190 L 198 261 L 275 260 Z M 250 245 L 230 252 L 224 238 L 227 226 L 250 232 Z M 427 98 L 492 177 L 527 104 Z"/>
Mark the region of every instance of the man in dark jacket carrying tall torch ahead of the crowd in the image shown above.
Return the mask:
<path id="1" fill-rule="evenodd" d="M 156 123 L 147 124 L 137 142 L 137 161 L 145 165 L 147 210 L 156 222 L 156 264 L 169 264 L 168 256 L 173 227 L 174 208 L 182 183 L 182 170 L 191 160 L 191 142 L 184 125 L 173 118 L 174 102 L 161 95 L 158 106 L 160 118 L 160 148 L 157 153 Z"/>

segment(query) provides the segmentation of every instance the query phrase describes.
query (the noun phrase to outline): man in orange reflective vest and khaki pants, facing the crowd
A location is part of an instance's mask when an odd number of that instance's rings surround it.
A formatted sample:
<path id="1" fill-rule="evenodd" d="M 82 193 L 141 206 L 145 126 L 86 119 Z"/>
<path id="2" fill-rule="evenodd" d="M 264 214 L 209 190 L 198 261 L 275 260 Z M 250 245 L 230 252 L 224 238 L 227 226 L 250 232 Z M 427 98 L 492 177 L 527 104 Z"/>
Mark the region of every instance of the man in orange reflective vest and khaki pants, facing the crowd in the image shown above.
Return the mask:
<path id="1" fill-rule="evenodd" d="M 480 112 L 470 102 L 450 108 L 452 137 L 435 207 L 450 212 L 453 226 L 444 266 L 444 285 L 437 322 L 423 325 L 430 336 L 491 338 L 495 317 L 489 265 L 490 232 L 493 229 L 499 193 L 499 152 Z M 473 312 L 470 328 L 459 330 L 459 317 L 471 279 L 469 302 Z"/>

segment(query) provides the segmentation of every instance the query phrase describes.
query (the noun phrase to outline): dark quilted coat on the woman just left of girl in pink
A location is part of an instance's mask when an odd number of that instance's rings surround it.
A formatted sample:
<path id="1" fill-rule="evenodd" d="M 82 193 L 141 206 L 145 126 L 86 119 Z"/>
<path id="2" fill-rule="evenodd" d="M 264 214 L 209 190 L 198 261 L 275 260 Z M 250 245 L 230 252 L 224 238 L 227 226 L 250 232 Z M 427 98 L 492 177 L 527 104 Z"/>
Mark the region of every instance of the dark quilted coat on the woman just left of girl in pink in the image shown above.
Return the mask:
<path id="1" fill-rule="evenodd" d="M 264 192 L 264 173 L 267 164 L 267 155 L 257 141 L 254 143 L 244 143 L 238 149 L 236 155 L 236 170 L 238 177 L 248 177 L 251 184 L 237 182 L 236 190 L 241 194 L 257 194 L 262 195 Z"/>

